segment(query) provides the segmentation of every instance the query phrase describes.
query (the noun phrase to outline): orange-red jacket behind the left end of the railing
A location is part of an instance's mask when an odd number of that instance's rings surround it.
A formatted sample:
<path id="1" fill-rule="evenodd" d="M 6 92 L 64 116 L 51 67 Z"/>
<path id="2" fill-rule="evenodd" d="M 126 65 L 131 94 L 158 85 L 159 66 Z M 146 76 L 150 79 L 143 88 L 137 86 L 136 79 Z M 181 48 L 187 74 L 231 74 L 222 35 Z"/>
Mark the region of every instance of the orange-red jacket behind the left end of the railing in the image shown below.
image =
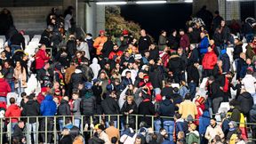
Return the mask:
<path id="1" fill-rule="evenodd" d="M 12 123 L 18 123 L 20 115 L 21 110 L 16 104 L 12 104 L 11 106 L 9 106 L 5 113 L 6 117 L 13 117 L 11 120 Z"/>

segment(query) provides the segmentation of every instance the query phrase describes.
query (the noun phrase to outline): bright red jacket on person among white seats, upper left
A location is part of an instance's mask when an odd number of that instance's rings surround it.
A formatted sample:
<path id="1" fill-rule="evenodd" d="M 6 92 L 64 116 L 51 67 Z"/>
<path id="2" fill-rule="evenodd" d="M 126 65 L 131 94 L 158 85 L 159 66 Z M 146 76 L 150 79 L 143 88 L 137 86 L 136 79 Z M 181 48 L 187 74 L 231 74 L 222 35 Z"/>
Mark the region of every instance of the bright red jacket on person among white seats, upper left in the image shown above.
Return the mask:
<path id="1" fill-rule="evenodd" d="M 41 69 L 44 67 L 44 62 L 47 62 L 50 60 L 49 57 L 47 57 L 46 51 L 40 49 L 38 52 L 36 52 L 36 69 Z"/>

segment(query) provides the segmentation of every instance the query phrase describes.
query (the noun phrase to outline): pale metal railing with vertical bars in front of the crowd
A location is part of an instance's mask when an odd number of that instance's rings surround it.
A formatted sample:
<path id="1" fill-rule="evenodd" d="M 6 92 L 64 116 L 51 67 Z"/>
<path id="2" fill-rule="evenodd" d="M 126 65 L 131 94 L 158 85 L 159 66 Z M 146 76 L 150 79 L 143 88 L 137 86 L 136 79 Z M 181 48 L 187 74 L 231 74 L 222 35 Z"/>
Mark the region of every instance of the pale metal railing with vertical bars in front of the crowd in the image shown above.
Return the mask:
<path id="1" fill-rule="evenodd" d="M 25 128 L 25 131 L 23 132 L 27 141 L 28 141 L 28 138 L 29 138 L 29 134 L 31 136 L 31 138 L 33 137 L 33 134 L 36 134 L 36 144 L 39 143 L 38 142 L 38 136 L 41 134 L 44 134 L 44 140 L 45 142 L 47 142 L 47 135 L 49 133 L 52 133 L 52 142 L 54 143 L 58 143 L 58 140 L 60 140 L 60 124 L 59 124 L 59 120 L 62 119 L 63 120 L 63 127 L 65 126 L 65 121 L 67 118 L 71 119 L 72 123 L 75 124 L 75 119 L 80 119 L 80 124 L 79 125 L 82 125 L 82 127 L 80 126 L 80 133 L 84 133 L 84 132 L 87 132 L 87 133 L 90 133 L 90 136 L 92 136 L 92 132 L 93 130 L 90 129 L 90 130 L 84 130 L 84 125 L 85 124 L 93 124 L 95 121 L 97 121 L 99 124 L 101 122 L 101 120 L 111 120 L 113 117 L 115 117 L 116 119 L 116 128 L 119 130 L 119 131 L 124 131 L 124 129 L 121 129 L 121 128 L 124 128 L 122 124 L 131 124 L 129 123 L 129 119 L 131 118 L 131 116 L 135 119 L 134 121 L 134 131 L 135 132 L 138 132 L 140 126 L 138 125 L 139 122 L 142 120 L 142 119 L 145 119 L 145 118 L 148 118 L 151 120 L 151 125 L 148 125 L 148 126 L 151 126 L 154 130 L 155 128 L 155 122 L 156 120 L 159 120 L 161 118 L 164 118 L 164 119 L 170 119 L 170 120 L 173 120 L 174 117 L 171 117 L 171 116 L 148 116 L 148 115 L 129 115 L 129 116 L 124 116 L 124 115 L 94 115 L 94 116 L 20 116 L 19 118 L 17 117 L 5 117 L 5 118 L 0 118 L 0 143 L 2 144 L 4 141 L 3 141 L 3 138 L 6 137 L 8 142 L 11 144 L 12 143 L 12 119 L 16 119 L 16 120 L 22 120 L 24 122 L 30 122 L 30 120 L 32 118 L 36 118 L 36 132 L 31 132 L 31 130 L 28 130 L 28 123 L 26 124 L 26 128 Z M 125 118 L 124 118 L 125 117 Z M 50 121 L 49 118 L 51 118 L 52 120 Z M 140 119 L 141 118 L 141 119 Z M 89 122 L 86 120 L 86 119 L 89 119 Z M 44 121 L 45 120 L 45 121 Z M 196 120 L 196 119 L 195 119 Z M 8 125 L 6 122 L 10 122 Z M 106 123 L 108 123 L 109 121 L 105 121 Z M 52 124 L 52 130 L 48 130 L 48 127 L 47 127 L 47 124 L 53 122 Z M 34 123 L 35 124 L 35 123 Z M 39 130 L 40 128 L 40 125 L 41 124 L 44 124 L 45 126 L 45 130 Z M 239 123 L 238 123 L 239 124 Z M 254 123 L 245 123 L 247 126 L 248 125 L 256 125 Z M 120 127 L 121 126 L 121 127 Z M 4 128 L 6 130 L 7 128 L 7 131 L 4 131 Z M 249 140 L 255 140 L 255 138 L 249 138 Z M 28 142 L 29 143 L 29 142 Z"/>

